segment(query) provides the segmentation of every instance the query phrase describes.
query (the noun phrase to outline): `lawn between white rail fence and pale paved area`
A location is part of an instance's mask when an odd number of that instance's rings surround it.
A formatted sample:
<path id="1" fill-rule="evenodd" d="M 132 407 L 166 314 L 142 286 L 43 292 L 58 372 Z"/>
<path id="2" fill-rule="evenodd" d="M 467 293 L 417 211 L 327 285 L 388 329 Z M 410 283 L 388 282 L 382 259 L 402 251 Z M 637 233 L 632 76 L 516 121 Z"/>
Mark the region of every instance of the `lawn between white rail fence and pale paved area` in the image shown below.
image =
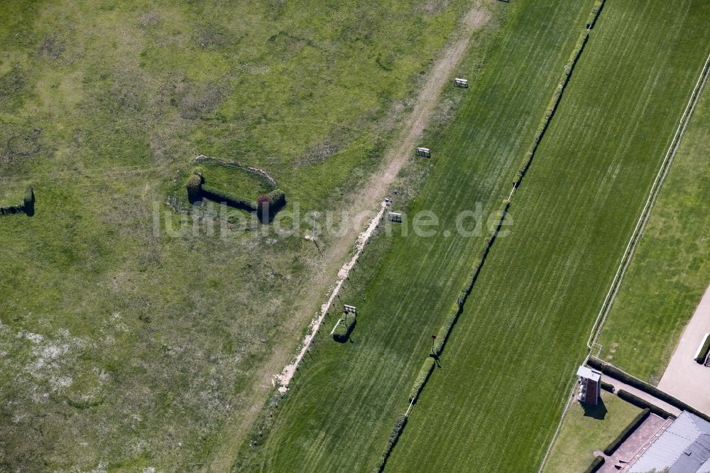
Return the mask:
<path id="1" fill-rule="evenodd" d="M 710 94 L 700 97 L 599 343 L 657 384 L 710 284 Z"/>

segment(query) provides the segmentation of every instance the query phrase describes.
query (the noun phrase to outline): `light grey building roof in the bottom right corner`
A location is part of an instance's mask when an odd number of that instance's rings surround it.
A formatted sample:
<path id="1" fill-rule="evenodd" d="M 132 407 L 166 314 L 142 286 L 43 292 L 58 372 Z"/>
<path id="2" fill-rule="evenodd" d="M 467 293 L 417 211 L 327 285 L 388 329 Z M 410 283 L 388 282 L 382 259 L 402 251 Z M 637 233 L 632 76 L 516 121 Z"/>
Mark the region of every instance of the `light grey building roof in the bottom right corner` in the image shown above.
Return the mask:
<path id="1" fill-rule="evenodd" d="M 683 411 L 628 471 L 645 473 L 654 469 L 710 473 L 710 423 Z"/>

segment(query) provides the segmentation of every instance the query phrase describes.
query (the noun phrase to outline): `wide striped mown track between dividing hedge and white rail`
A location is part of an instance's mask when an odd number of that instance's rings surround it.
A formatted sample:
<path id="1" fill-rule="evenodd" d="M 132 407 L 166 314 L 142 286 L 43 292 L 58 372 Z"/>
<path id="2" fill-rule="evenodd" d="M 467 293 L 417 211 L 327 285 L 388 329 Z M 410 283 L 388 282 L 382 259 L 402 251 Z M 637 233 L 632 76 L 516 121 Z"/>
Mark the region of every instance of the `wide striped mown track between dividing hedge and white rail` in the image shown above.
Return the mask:
<path id="1" fill-rule="evenodd" d="M 387 464 L 534 471 L 707 51 L 710 4 L 611 0 Z"/>

